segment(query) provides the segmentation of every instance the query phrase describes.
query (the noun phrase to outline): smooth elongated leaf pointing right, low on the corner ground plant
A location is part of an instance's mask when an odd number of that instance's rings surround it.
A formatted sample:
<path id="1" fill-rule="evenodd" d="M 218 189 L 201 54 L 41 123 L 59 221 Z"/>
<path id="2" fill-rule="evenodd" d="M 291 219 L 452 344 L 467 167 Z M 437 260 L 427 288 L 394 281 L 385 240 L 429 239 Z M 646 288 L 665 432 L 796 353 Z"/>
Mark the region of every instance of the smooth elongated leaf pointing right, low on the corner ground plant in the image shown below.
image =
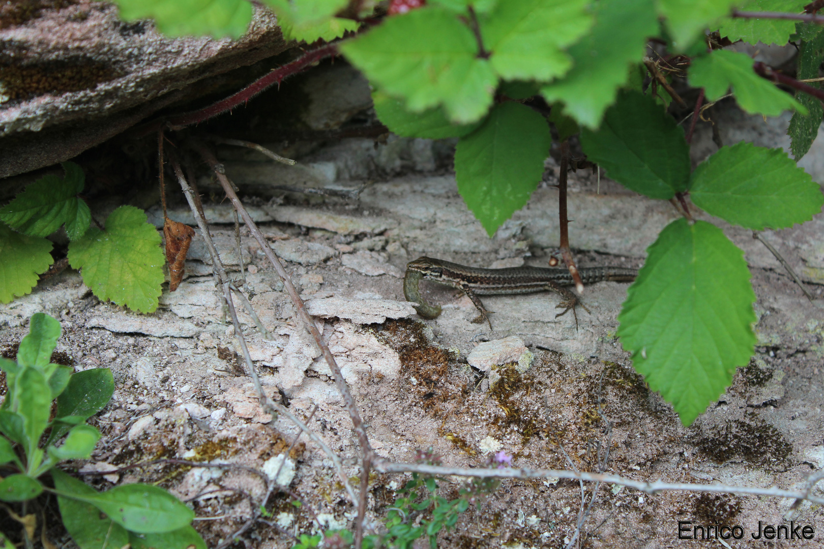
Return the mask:
<path id="1" fill-rule="evenodd" d="M 183 528 L 194 519 L 189 509 L 159 486 L 126 484 L 110 491 L 91 494 L 61 493 L 101 509 L 110 519 L 130 532 L 166 533 Z"/>

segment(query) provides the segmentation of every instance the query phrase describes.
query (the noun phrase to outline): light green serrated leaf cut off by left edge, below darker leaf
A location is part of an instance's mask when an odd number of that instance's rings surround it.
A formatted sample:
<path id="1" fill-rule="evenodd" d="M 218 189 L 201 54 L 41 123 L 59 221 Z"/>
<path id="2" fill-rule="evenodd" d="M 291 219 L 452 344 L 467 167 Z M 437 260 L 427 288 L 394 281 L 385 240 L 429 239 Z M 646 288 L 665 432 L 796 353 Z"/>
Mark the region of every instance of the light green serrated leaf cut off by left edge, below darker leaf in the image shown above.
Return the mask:
<path id="1" fill-rule="evenodd" d="M 26 295 L 35 287 L 38 275 L 54 263 L 51 249 L 49 240 L 21 235 L 0 223 L 0 303 Z"/>

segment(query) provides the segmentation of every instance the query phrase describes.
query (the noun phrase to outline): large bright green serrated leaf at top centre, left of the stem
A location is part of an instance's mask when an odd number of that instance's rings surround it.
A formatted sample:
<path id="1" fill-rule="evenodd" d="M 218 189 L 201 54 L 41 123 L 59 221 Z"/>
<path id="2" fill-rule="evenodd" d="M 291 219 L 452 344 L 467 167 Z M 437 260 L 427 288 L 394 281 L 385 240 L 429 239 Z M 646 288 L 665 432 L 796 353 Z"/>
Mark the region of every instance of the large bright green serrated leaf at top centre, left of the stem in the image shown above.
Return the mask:
<path id="1" fill-rule="evenodd" d="M 489 61 L 478 57 L 472 31 L 442 8 L 387 17 L 340 44 L 340 50 L 369 81 L 405 100 L 414 113 L 442 105 L 453 123 L 471 123 L 492 105 L 498 78 Z"/>

